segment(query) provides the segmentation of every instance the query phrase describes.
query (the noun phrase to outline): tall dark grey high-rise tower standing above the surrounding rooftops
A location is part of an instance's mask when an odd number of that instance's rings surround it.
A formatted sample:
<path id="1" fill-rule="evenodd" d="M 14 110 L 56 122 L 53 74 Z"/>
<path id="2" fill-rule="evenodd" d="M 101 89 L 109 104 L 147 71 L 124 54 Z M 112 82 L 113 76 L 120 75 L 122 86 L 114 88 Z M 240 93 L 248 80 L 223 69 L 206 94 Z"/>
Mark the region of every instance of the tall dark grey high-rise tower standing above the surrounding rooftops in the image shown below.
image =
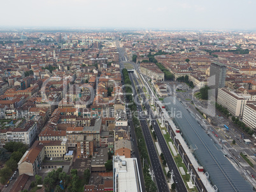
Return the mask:
<path id="1" fill-rule="evenodd" d="M 220 62 L 212 62 L 210 67 L 210 82 L 212 88 L 215 89 L 215 97 L 218 97 L 218 88 L 225 86 L 227 66 Z M 213 82 L 215 81 L 215 82 Z"/>

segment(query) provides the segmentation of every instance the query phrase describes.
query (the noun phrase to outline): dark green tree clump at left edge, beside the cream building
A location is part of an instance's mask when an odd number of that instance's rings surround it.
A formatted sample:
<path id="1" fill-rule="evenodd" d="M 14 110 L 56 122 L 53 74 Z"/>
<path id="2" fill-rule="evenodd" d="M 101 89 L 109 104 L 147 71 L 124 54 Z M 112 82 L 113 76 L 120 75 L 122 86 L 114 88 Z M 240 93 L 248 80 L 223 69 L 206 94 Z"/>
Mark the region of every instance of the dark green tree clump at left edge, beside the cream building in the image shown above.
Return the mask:
<path id="1" fill-rule="evenodd" d="M 0 149 L 0 161 L 5 162 L 4 168 L 0 170 L 1 184 L 5 184 L 10 179 L 27 149 L 28 146 L 22 142 L 7 142 L 4 148 Z"/>

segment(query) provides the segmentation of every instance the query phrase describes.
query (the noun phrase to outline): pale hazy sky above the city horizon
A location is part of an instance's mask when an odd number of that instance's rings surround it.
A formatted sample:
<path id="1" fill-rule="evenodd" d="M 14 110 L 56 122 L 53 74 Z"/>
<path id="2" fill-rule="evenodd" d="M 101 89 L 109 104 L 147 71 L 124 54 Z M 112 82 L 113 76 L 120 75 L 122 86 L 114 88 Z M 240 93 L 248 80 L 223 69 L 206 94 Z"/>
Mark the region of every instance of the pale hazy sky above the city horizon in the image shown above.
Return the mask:
<path id="1" fill-rule="evenodd" d="M 10 0 L 0 27 L 256 29 L 256 0 Z"/>

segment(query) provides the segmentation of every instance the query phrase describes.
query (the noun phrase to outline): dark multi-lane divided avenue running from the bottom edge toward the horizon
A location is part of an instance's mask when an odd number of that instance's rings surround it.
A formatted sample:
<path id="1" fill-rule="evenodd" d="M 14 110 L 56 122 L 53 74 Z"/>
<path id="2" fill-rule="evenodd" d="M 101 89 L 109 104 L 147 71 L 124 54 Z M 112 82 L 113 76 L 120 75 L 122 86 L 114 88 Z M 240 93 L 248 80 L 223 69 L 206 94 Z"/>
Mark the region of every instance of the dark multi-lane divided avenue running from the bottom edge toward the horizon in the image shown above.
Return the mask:
<path id="1" fill-rule="evenodd" d="M 120 48 L 119 45 L 118 45 L 118 52 L 119 52 L 119 56 L 120 56 L 120 70 L 122 70 L 124 67 L 122 62 L 126 59 L 124 57 L 124 49 Z M 139 71 L 137 64 L 134 64 L 134 62 L 129 62 L 129 63 L 134 65 L 134 69 L 137 72 Z M 122 65 L 122 67 L 121 67 L 121 65 Z M 132 79 L 134 81 L 136 81 L 137 86 L 141 85 L 141 83 L 138 82 L 138 80 L 136 79 L 134 74 L 132 74 L 131 72 L 129 72 L 129 77 L 130 77 L 131 81 L 132 81 Z M 136 90 L 133 81 L 132 81 L 132 86 L 133 86 L 134 90 Z M 174 172 L 173 180 L 176 182 L 176 190 L 177 191 L 187 191 L 187 188 L 185 187 L 185 184 L 181 178 L 180 172 L 178 171 L 178 168 L 176 167 L 173 156 L 171 155 L 171 152 L 169 151 L 169 147 L 167 146 L 164 136 L 162 135 L 162 132 L 160 131 L 159 125 L 158 125 L 157 121 L 155 120 L 155 116 L 152 116 L 153 112 L 146 100 L 144 92 L 141 89 L 141 87 L 138 87 L 138 88 L 139 88 L 139 95 L 141 95 L 141 97 L 143 97 L 143 103 L 146 107 L 146 111 L 148 112 L 148 114 L 150 114 L 150 116 L 152 118 L 152 126 L 153 126 L 153 129 L 155 130 L 155 134 L 157 135 L 157 140 L 159 141 L 160 148 L 162 150 L 162 153 L 164 154 L 164 158 L 166 159 L 167 166 L 168 166 L 169 170 L 173 170 L 173 172 Z M 136 91 L 134 91 L 134 101 L 137 104 L 138 111 L 142 112 L 143 108 L 139 102 Z M 164 175 L 162 166 L 160 164 L 159 155 L 155 149 L 152 135 L 150 134 L 150 129 L 148 127 L 148 123 L 146 120 L 146 118 L 148 118 L 148 117 L 149 116 L 139 115 L 139 121 L 141 123 L 141 128 L 143 130 L 143 135 L 145 137 L 146 147 L 148 149 L 148 154 L 150 156 L 150 161 L 151 161 L 152 168 L 153 168 L 153 174 L 155 175 L 155 181 L 157 182 L 157 188 L 159 189 L 159 191 L 161 191 L 161 192 L 169 191 L 169 187 L 167 186 L 167 182 L 166 182 L 166 177 Z"/>

